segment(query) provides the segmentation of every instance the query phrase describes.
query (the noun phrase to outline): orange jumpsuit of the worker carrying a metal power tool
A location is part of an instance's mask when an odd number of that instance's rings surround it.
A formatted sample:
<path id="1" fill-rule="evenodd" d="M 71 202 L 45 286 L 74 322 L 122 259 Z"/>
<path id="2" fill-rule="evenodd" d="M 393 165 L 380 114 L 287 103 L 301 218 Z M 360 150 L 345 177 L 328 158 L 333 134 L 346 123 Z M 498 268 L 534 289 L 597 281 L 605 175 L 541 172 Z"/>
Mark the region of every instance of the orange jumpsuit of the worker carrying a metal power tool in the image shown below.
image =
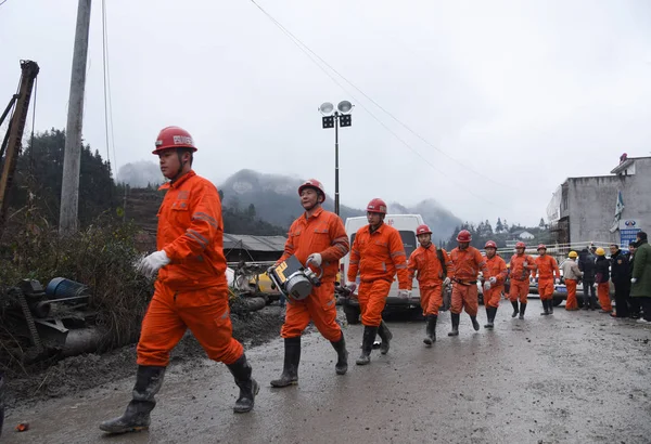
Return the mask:
<path id="1" fill-rule="evenodd" d="M 288 234 L 284 253 L 280 263 L 294 254 L 305 264 L 311 253 L 321 253 L 323 276 L 321 286 L 312 287 L 310 296 L 302 301 L 288 299 L 285 322 L 280 335 L 283 338 L 297 338 L 303 334 L 310 321 L 329 341 L 342 339 L 342 329 L 336 323 L 336 305 L 334 299 L 334 280 L 339 272 L 339 261 L 348 253 L 348 236 L 339 216 L 317 209 L 309 218 L 304 213 L 296 219 Z M 318 272 L 311 264 L 312 270 Z"/>

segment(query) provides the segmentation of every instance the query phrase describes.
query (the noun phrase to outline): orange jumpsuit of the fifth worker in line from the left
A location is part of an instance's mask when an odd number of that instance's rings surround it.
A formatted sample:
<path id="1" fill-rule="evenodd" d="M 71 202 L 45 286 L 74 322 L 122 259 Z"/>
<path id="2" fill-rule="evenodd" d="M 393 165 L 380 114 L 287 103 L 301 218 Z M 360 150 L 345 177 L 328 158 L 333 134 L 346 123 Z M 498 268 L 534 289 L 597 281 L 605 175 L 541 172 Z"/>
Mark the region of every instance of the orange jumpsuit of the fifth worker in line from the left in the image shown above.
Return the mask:
<path id="1" fill-rule="evenodd" d="M 464 309 L 470 316 L 476 316 L 478 308 L 477 275 L 480 271 L 484 274 L 488 273 L 486 260 L 480 250 L 470 246 L 463 250 L 455 248 L 449 258 L 448 274 L 454 282 L 450 312 L 459 314 L 461 309 Z"/>

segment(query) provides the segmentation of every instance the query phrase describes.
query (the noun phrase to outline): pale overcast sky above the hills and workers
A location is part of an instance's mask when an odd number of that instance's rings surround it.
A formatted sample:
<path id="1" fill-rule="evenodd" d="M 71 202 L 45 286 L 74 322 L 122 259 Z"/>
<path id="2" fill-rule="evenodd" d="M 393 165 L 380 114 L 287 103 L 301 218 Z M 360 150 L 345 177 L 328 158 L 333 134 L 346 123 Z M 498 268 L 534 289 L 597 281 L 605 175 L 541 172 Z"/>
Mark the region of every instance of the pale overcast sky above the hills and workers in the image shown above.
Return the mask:
<path id="1" fill-rule="evenodd" d="M 106 0 L 118 168 L 156 160 L 158 130 L 178 125 L 217 184 L 250 168 L 334 194 L 334 132 L 317 108 L 349 100 L 343 204 L 432 197 L 464 220 L 537 224 L 565 178 L 651 153 L 647 0 L 257 2 L 431 145 L 334 83 L 251 1 Z M 105 157 L 101 12 L 93 1 L 84 139 Z M 0 6 L 0 105 L 18 61 L 38 62 L 38 131 L 65 128 L 76 13 L 74 0 Z"/>

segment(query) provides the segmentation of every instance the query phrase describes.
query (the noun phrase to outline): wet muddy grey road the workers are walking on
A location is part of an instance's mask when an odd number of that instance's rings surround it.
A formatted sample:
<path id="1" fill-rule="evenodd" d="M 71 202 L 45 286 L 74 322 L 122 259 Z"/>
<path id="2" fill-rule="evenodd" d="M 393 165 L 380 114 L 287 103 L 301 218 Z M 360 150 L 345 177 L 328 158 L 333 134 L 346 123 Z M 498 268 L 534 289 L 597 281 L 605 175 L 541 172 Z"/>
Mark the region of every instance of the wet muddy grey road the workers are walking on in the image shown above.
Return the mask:
<path id="1" fill-rule="evenodd" d="M 483 308 L 482 308 L 483 309 Z M 649 443 L 651 327 L 597 312 L 557 308 L 525 321 L 502 302 L 494 331 L 448 338 L 424 348 L 423 323 L 390 322 L 386 356 L 355 366 L 360 326 L 345 329 L 348 374 L 334 373 L 334 351 L 316 334 L 304 338 L 299 386 L 272 389 L 282 367 L 280 339 L 247 351 L 260 382 L 256 406 L 233 415 L 237 389 L 209 361 L 174 365 L 149 432 L 104 436 L 98 423 L 122 414 L 132 378 L 9 413 L 7 443 Z M 485 314 L 481 312 L 483 326 Z M 30 430 L 11 430 L 28 421 Z"/>

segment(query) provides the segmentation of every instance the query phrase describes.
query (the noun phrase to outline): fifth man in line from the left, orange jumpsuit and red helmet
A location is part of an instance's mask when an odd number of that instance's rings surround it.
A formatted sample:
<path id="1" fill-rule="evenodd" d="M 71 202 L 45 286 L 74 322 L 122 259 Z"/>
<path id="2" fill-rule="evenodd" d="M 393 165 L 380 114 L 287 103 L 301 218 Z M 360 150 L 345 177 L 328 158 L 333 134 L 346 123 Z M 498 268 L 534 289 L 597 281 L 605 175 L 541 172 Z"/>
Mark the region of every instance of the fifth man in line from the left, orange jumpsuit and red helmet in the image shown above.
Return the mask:
<path id="1" fill-rule="evenodd" d="M 477 275 L 480 271 L 487 274 L 488 267 L 480 250 L 470 246 L 471 240 L 470 232 L 461 230 L 457 235 L 459 246 L 450 252 L 448 273 L 452 280 L 452 304 L 450 306 L 452 330 L 448 332 L 448 336 L 459 336 L 461 309 L 464 309 L 470 316 L 475 331 L 480 329 Z"/>

